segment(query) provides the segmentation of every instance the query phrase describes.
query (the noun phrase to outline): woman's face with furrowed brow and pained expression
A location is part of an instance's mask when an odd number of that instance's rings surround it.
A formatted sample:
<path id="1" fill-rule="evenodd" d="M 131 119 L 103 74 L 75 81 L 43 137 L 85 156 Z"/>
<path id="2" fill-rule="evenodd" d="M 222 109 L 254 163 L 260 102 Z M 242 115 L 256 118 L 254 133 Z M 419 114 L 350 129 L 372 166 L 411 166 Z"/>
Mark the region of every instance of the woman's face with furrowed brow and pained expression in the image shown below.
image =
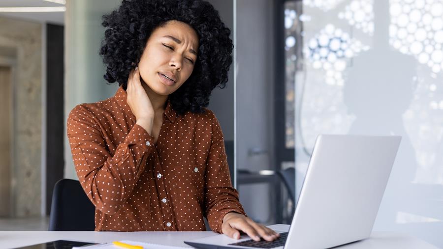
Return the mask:
<path id="1" fill-rule="evenodd" d="M 198 35 L 188 24 L 172 20 L 156 28 L 138 63 L 142 84 L 159 95 L 173 93 L 190 77 L 197 51 Z"/>

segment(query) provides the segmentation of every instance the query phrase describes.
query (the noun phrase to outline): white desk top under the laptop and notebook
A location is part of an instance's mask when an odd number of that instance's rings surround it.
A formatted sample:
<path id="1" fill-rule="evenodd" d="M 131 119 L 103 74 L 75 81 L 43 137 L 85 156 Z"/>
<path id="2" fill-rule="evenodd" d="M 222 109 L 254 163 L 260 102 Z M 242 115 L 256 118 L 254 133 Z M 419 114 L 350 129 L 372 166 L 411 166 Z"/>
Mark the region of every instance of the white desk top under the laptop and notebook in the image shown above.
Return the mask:
<path id="1" fill-rule="evenodd" d="M 287 230 L 289 225 L 269 226 L 276 230 Z M 49 232 L 19 231 L 0 232 L 0 249 L 10 249 L 54 240 L 85 242 L 111 242 L 132 240 L 169 246 L 189 247 L 184 240 L 215 235 L 213 232 Z M 321 238 L 319 238 L 321 239 Z M 348 244 L 337 249 L 438 249 L 414 237 L 394 232 L 373 232 L 366 240 Z"/>

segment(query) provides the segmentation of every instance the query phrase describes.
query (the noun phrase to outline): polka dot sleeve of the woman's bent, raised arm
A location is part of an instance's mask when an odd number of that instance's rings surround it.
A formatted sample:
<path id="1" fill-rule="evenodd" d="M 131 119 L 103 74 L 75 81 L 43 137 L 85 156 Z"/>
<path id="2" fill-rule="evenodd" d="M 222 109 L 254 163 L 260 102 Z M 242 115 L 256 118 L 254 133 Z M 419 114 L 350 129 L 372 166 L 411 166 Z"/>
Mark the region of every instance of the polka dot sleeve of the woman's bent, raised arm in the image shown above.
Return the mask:
<path id="1" fill-rule="evenodd" d="M 95 119 L 85 106 L 76 106 L 68 116 L 67 137 L 88 198 L 98 210 L 112 215 L 126 202 L 143 173 L 154 138 L 136 124 L 111 155 Z"/>

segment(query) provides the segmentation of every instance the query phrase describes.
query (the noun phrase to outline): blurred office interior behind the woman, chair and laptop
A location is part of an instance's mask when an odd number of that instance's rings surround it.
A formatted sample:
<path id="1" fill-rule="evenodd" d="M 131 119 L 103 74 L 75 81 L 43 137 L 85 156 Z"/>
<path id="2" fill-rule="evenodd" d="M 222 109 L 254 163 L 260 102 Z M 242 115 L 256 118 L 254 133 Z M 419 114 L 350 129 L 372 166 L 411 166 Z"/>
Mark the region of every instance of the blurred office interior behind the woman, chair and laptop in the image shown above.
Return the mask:
<path id="1" fill-rule="evenodd" d="M 443 247 L 443 0 L 209 1 L 235 44 L 209 108 L 249 216 L 290 222 L 318 134 L 400 135 L 374 230 Z M 0 0 L 0 230 L 47 230 L 77 179 L 66 117 L 117 90 L 98 49 L 119 3 Z"/>

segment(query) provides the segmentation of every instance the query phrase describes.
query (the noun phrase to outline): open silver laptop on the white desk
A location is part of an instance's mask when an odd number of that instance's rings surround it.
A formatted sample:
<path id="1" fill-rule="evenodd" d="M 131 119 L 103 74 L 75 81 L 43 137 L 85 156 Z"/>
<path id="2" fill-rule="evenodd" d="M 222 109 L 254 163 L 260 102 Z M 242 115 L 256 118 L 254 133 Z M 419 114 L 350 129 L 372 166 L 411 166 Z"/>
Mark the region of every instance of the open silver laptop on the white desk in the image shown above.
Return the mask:
<path id="1" fill-rule="evenodd" d="M 201 249 L 324 249 L 368 238 L 379 210 L 399 136 L 319 135 L 289 231 L 253 241 L 214 235 L 185 241 Z"/>

